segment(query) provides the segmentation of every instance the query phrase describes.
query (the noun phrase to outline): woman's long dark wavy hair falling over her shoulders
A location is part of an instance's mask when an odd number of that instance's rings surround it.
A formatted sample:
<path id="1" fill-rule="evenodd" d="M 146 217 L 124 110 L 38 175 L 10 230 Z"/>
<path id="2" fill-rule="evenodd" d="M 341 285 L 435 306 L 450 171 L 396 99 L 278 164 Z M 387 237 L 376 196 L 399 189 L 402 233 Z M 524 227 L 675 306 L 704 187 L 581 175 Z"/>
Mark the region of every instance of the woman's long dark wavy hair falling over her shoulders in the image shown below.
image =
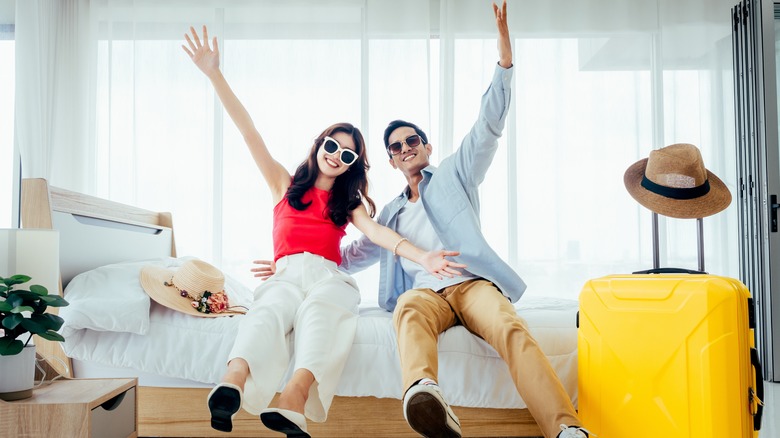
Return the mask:
<path id="1" fill-rule="evenodd" d="M 302 201 L 303 194 L 306 193 L 317 180 L 320 174 L 320 167 L 317 164 L 317 151 L 322 146 L 325 136 L 333 137 L 333 134 L 343 132 L 352 136 L 355 142 L 355 153 L 358 159 L 342 173 L 333 182 L 333 188 L 328 197 L 328 213 L 330 220 L 338 226 L 342 226 L 349 220 L 349 213 L 360 205 L 365 198 L 368 214 L 374 217 L 376 205 L 368 197 L 368 176 L 366 172 L 371 167 L 368 165 L 368 155 L 366 155 L 366 143 L 363 140 L 363 134 L 360 130 L 349 123 L 336 123 L 314 140 L 314 144 L 309 152 L 309 157 L 298 166 L 293 176 L 293 182 L 287 189 L 287 202 L 296 210 L 305 210 L 311 205 L 311 202 Z"/>

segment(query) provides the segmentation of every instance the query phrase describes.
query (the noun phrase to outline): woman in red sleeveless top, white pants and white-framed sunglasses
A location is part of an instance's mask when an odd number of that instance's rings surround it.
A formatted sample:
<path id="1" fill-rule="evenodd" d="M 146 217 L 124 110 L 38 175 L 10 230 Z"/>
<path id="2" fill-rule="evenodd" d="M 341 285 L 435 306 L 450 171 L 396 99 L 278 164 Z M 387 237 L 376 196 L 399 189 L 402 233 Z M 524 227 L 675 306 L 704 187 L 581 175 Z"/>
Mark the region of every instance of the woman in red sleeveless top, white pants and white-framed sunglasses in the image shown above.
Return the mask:
<path id="1" fill-rule="evenodd" d="M 243 406 L 260 412 L 263 424 L 288 437 L 308 437 L 306 417 L 325 421 L 355 335 L 360 294 L 354 280 L 337 269 L 348 222 L 376 244 L 422 265 L 434 275 L 458 275 L 465 265 L 424 252 L 372 219 L 367 196 L 368 159 L 363 136 L 348 123 L 330 126 L 315 140 L 308 159 L 290 176 L 273 159 L 252 119 L 219 69 L 216 38 L 208 42 L 190 28 L 182 48 L 211 80 L 260 168 L 274 201 L 276 275 L 255 291 L 242 318 L 222 383 L 209 394 L 213 428 L 229 432 Z M 212 49 L 213 46 L 213 49 Z M 368 204 L 368 209 L 364 202 Z M 370 212 L 370 213 L 369 213 Z M 285 335 L 295 329 L 294 372 L 268 409 L 289 366 Z"/>

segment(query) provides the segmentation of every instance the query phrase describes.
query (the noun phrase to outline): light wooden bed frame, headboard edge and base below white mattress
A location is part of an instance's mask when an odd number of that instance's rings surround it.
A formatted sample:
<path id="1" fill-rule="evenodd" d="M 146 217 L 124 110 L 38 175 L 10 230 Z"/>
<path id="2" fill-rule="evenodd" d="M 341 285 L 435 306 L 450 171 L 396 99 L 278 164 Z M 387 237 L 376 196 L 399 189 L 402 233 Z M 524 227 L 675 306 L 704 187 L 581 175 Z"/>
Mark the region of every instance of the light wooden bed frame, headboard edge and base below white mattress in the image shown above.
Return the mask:
<path id="1" fill-rule="evenodd" d="M 105 199 L 51 187 L 43 179 L 22 182 L 23 228 L 51 229 L 52 212 L 61 211 L 136 225 L 173 229 L 170 213 L 153 212 Z M 176 256 L 175 244 L 171 256 Z M 62 295 L 62 285 L 60 285 Z M 53 310 L 56 310 L 53 309 Z M 36 337 L 38 354 L 66 378 L 73 378 L 72 363 L 58 342 Z M 61 362 L 61 363 L 60 363 Z M 64 366 L 63 366 L 64 365 Z M 135 377 L 135 376 L 128 376 Z M 138 436 L 212 437 L 228 436 L 211 428 L 206 407 L 208 388 L 162 388 L 139 386 Z M 275 402 L 272 402 L 272 406 Z M 539 427 L 527 409 L 488 409 L 454 406 L 463 436 L 540 437 Z M 406 424 L 402 401 L 375 397 L 335 397 L 324 423 L 309 422 L 315 437 L 414 437 Z M 240 411 L 233 421 L 236 437 L 276 437 L 260 420 Z"/>

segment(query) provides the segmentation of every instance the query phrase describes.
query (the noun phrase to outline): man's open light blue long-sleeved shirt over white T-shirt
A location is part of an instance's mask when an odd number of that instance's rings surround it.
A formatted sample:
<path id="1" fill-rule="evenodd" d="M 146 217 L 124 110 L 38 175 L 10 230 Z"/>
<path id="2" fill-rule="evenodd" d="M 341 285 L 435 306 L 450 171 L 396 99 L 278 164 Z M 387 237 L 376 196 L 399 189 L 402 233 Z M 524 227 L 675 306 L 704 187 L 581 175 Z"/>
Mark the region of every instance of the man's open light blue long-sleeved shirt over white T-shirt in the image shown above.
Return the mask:
<path id="1" fill-rule="evenodd" d="M 459 251 L 453 260 L 465 263 L 472 274 L 493 282 L 511 302 L 520 299 L 525 283 L 496 254 L 482 235 L 479 220 L 479 185 L 498 149 L 509 112 L 513 68 L 496 66 L 490 87 L 482 96 L 482 106 L 471 131 L 457 151 L 443 159 L 439 167 L 422 170 L 420 200 L 444 248 Z M 407 187 L 408 189 L 408 187 Z M 408 202 L 407 191 L 388 203 L 377 222 L 397 230 L 398 212 Z M 414 243 L 414 242 L 413 242 Z M 339 268 L 352 274 L 379 261 L 379 305 L 395 309 L 398 296 L 413 288 L 392 252 L 366 236 L 341 248 Z"/>

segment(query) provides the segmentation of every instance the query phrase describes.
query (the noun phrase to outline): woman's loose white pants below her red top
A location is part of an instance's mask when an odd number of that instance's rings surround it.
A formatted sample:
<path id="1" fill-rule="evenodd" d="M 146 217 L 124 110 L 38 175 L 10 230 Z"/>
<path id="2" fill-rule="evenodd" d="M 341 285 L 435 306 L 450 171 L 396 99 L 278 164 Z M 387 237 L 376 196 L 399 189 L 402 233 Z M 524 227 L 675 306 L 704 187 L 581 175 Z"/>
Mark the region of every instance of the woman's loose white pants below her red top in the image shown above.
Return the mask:
<path id="1" fill-rule="evenodd" d="M 277 260 L 276 274 L 255 289 L 228 358 L 249 364 L 244 409 L 257 415 L 268 407 L 292 360 L 293 371 L 307 369 L 315 378 L 304 413 L 325 421 L 355 338 L 359 304 L 355 280 L 334 262 L 310 253 Z"/>

